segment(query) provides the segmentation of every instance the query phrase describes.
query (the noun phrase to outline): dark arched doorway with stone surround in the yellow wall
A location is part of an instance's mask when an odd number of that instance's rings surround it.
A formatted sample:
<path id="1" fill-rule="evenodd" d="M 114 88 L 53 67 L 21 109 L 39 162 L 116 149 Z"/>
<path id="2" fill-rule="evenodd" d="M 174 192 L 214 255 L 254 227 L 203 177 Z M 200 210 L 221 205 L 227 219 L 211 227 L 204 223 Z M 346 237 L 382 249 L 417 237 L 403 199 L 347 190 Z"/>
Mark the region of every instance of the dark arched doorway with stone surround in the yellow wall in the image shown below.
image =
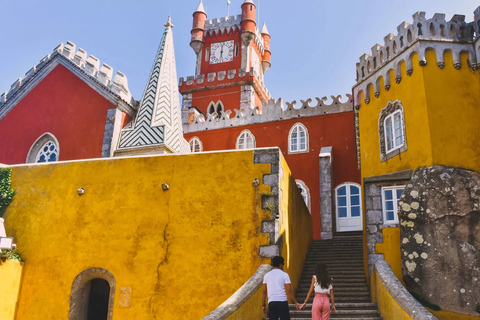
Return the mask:
<path id="1" fill-rule="evenodd" d="M 115 278 L 105 269 L 81 272 L 73 281 L 69 320 L 111 320 Z"/>

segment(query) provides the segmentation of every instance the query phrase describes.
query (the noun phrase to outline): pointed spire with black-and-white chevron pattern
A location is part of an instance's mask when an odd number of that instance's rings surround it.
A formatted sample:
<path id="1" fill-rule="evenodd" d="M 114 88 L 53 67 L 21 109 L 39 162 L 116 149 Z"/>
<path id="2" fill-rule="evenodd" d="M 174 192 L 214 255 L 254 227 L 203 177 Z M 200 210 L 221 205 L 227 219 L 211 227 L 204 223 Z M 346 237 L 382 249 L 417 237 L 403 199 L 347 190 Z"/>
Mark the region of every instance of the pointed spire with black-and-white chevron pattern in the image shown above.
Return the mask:
<path id="1" fill-rule="evenodd" d="M 135 121 L 120 132 L 118 155 L 189 152 L 183 138 L 172 28 L 168 17 Z"/>

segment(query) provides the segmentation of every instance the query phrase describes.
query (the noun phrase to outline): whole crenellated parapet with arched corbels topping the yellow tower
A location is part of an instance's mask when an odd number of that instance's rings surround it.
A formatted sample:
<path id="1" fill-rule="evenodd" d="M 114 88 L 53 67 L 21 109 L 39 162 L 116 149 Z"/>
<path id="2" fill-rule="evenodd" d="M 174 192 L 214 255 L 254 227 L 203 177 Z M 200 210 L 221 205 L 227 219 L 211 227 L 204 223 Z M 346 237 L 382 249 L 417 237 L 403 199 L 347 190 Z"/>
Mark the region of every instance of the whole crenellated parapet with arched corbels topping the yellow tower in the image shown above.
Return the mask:
<path id="1" fill-rule="evenodd" d="M 453 57 L 453 66 L 461 69 L 460 56 L 468 54 L 468 68 L 476 70 L 480 67 L 480 7 L 475 10 L 475 20 L 465 22 L 464 15 L 454 15 L 451 20 L 445 19 L 445 14 L 437 13 L 427 19 L 425 12 L 413 14 L 413 22 L 402 22 L 397 27 L 397 34 L 388 34 L 384 37 L 384 44 L 376 44 L 371 49 L 371 54 L 364 54 L 357 63 L 357 84 L 354 86 L 356 104 L 361 92 L 364 93 L 365 103 L 371 97 L 370 87 L 376 97 L 379 96 L 380 79 L 383 78 L 384 89 L 390 89 L 390 74 L 394 73 L 396 83 L 402 81 L 400 67 L 406 66 L 407 76 L 413 73 L 412 58 L 418 55 L 419 65 L 436 63 L 439 68 L 444 68 L 444 53 L 450 52 Z M 427 61 L 427 51 L 434 51 L 436 61 Z"/>

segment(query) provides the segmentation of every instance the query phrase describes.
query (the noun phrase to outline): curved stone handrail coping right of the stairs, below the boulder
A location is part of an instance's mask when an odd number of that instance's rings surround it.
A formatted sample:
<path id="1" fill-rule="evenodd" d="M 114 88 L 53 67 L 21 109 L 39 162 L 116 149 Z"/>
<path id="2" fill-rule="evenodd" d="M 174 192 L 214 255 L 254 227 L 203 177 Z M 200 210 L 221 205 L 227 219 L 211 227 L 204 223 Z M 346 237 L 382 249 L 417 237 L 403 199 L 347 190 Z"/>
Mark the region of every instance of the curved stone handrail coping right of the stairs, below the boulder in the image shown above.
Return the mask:
<path id="1" fill-rule="evenodd" d="M 414 320 L 438 320 L 431 314 L 420 302 L 418 302 L 405 289 L 402 283 L 397 279 L 392 268 L 385 260 L 378 260 L 375 263 L 375 270 L 382 284 L 391 294 L 393 299 L 405 310 L 405 312 Z M 380 306 L 379 306 L 380 307 Z M 384 316 L 385 317 L 385 316 Z"/>

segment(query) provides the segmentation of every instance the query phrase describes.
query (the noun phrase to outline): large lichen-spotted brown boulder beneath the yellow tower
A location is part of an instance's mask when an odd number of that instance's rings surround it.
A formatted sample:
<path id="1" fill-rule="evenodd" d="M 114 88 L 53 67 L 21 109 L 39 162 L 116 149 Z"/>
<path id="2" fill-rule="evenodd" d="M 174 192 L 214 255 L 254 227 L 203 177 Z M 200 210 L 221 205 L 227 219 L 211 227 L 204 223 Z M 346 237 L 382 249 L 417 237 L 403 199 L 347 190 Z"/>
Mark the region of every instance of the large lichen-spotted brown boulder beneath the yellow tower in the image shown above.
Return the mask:
<path id="1" fill-rule="evenodd" d="M 443 310 L 477 315 L 480 305 L 480 174 L 416 170 L 399 201 L 407 290 Z"/>

